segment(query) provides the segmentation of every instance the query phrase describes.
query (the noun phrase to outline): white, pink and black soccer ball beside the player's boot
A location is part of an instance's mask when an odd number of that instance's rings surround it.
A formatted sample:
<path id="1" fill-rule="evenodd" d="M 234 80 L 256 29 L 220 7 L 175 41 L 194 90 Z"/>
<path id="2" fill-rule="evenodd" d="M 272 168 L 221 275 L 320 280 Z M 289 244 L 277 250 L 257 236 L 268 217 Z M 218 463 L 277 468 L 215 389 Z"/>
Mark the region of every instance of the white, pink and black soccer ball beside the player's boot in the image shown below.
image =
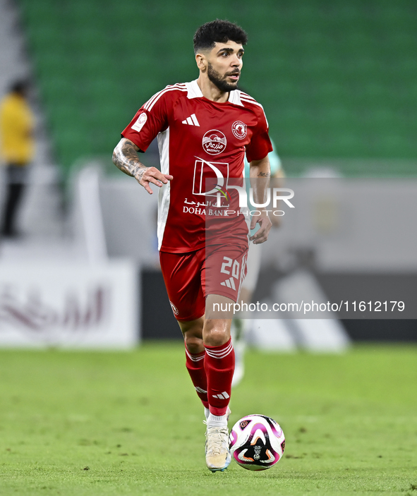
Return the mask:
<path id="1" fill-rule="evenodd" d="M 247 415 L 237 421 L 229 435 L 229 449 L 236 463 L 248 470 L 266 470 L 284 454 L 282 428 L 265 415 Z"/>

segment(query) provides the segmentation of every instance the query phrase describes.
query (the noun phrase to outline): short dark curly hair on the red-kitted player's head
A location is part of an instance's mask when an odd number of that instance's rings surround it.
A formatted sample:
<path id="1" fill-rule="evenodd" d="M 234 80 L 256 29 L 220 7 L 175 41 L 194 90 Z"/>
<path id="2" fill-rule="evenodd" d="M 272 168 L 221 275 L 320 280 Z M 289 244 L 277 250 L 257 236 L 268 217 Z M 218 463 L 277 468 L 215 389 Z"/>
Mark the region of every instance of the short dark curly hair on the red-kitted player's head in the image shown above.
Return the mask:
<path id="1" fill-rule="evenodd" d="M 237 24 L 230 23 L 229 20 L 216 19 L 210 23 L 205 23 L 195 32 L 194 53 L 200 50 L 214 48 L 215 43 L 227 43 L 228 41 L 238 44 L 246 44 L 248 35 Z"/>

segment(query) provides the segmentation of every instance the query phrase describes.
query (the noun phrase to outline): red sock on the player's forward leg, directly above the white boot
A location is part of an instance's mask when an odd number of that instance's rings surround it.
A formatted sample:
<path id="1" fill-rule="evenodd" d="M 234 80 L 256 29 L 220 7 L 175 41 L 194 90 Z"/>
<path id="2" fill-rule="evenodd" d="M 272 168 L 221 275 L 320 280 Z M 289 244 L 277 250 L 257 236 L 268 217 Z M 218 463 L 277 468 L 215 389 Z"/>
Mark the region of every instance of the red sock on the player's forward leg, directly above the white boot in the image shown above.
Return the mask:
<path id="1" fill-rule="evenodd" d="M 222 346 L 205 346 L 204 368 L 210 413 L 223 416 L 229 405 L 234 373 L 234 349 L 231 339 Z"/>

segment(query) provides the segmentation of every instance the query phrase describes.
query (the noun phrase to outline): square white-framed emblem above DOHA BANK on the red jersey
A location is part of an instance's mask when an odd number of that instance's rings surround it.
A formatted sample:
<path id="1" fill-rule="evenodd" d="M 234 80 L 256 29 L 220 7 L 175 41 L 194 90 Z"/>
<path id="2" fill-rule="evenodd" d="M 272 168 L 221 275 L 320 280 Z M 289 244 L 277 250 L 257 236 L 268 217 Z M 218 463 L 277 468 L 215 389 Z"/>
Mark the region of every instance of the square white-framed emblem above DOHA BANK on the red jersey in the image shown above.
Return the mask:
<path id="1" fill-rule="evenodd" d="M 193 195 L 217 196 L 219 190 L 227 188 L 229 164 L 195 158 Z"/>

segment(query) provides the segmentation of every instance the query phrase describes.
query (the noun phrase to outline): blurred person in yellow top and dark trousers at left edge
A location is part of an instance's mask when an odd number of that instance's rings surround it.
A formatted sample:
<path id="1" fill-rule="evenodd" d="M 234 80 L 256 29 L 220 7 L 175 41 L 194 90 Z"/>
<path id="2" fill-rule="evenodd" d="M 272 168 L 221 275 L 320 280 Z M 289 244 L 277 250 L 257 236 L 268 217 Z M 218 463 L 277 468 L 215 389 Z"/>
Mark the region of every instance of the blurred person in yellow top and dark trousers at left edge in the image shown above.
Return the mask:
<path id="1" fill-rule="evenodd" d="M 14 237 L 16 212 L 28 176 L 28 164 L 33 159 L 34 119 L 26 100 L 28 83 L 16 81 L 0 103 L 0 154 L 6 164 L 6 203 L 1 235 Z"/>

